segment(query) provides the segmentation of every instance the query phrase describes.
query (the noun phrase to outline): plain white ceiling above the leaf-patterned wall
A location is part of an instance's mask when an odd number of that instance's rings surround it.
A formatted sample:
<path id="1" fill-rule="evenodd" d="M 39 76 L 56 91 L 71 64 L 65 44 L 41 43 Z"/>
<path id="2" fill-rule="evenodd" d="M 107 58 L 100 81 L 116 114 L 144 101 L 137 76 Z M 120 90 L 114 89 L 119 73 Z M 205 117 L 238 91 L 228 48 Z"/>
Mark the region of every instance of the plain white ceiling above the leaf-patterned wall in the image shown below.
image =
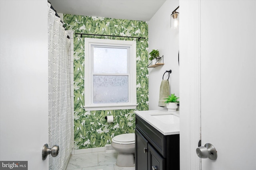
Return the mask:
<path id="1" fill-rule="evenodd" d="M 166 0 L 48 0 L 57 13 L 149 21 Z"/>

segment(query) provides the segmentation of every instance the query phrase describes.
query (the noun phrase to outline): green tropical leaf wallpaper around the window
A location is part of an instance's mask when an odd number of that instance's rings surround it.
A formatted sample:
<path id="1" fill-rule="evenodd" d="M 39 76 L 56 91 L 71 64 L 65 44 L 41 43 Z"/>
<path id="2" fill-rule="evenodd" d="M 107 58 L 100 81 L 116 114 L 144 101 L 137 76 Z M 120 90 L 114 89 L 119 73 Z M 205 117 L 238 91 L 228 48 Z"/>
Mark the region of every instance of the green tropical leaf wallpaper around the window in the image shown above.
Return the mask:
<path id="1" fill-rule="evenodd" d="M 137 103 L 136 110 L 148 110 L 148 23 L 64 14 L 64 27 L 74 31 L 74 147 L 87 149 L 104 147 L 111 139 L 123 133 L 134 133 L 133 110 L 85 111 L 84 105 L 84 38 L 136 41 L 137 50 Z M 97 34 L 79 35 L 75 33 Z M 100 35 L 144 37 L 135 39 Z M 114 116 L 114 123 L 104 117 Z"/>

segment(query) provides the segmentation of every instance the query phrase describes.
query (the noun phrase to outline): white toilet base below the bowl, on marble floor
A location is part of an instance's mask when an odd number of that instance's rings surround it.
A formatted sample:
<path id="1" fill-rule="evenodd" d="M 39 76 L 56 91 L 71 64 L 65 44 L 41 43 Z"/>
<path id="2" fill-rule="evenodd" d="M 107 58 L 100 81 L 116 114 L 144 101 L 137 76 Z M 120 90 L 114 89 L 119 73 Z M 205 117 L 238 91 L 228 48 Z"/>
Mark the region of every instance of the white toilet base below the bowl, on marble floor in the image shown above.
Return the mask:
<path id="1" fill-rule="evenodd" d="M 116 165 L 123 167 L 135 166 L 134 154 L 126 152 L 118 152 Z"/>

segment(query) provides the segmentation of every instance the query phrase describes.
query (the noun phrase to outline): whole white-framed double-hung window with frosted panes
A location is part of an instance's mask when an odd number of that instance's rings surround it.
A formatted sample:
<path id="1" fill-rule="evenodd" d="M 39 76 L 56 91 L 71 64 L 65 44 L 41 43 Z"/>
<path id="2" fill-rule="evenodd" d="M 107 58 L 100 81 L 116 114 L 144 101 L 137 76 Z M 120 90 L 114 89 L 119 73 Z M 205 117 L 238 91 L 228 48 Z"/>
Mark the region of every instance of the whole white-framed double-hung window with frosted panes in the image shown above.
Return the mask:
<path id="1" fill-rule="evenodd" d="M 135 109 L 136 41 L 85 38 L 86 110 Z"/>

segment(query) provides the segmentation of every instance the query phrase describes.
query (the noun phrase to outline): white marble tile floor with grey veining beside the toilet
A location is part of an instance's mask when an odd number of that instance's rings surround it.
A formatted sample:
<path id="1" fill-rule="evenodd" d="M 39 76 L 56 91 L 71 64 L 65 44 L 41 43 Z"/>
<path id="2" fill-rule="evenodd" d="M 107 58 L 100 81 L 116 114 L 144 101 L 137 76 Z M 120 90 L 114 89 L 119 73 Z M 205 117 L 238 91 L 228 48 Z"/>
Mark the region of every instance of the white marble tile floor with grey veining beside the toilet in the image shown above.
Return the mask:
<path id="1" fill-rule="evenodd" d="M 116 165 L 117 152 L 92 152 L 71 155 L 66 170 L 135 170 Z"/>

